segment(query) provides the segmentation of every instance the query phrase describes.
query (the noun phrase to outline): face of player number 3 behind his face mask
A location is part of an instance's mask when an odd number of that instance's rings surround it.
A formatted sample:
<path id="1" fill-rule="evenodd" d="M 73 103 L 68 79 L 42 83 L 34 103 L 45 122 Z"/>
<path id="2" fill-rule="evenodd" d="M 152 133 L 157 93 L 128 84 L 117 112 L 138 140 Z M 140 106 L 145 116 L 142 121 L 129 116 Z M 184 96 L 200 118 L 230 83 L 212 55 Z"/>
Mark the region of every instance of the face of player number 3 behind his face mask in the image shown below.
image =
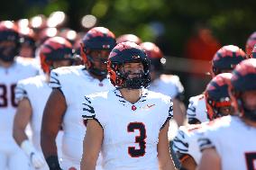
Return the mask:
<path id="1" fill-rule="evenodd" d="M 121 69 L 121 72 L 123 72 L 123 74 L 128 74 L 129 78 L 138 77 L 142 74 L 143 71 L 144 68 L 141 62 L 125 63 L 123 65 L 123 69 Z"/>

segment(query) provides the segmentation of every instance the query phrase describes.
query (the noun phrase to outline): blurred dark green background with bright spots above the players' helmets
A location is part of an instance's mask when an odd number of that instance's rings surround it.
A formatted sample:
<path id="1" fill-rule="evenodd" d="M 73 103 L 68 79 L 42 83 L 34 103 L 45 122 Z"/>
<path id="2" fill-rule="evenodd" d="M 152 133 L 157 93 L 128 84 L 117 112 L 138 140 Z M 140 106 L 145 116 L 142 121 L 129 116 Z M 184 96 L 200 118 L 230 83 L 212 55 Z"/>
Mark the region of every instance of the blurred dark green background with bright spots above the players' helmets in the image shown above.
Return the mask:
<path id="1" fill-rule="evenodd" d="M 155 42 L 165 58 L 164 72 L 180 77 L 185 100 L 200 94 L 211 76 L 217 49 L 233 44 L 245 50 L 255 31 L 256 1 L 215 0 L 8 0 L 1 2 L 0 21 L 17 22 L 23 35 L 23 57 L 35 57 L 47 37 L 59 35 L 75 49 L 94 26 L 132 33 Z"/>

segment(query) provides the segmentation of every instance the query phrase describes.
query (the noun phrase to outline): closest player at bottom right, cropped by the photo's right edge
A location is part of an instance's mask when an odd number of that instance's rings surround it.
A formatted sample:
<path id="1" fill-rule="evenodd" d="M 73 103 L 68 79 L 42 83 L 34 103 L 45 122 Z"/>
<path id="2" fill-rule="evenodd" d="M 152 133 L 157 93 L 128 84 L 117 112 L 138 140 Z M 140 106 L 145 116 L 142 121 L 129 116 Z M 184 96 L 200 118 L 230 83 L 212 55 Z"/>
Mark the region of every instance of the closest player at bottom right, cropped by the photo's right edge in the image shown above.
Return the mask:
<path id="1" fill-rule="evenodd" d="M 242 61 L 231 78 L 232 105 L 239 116 L 224 116 L 198 140 L 199 170 L 255 169 L 256 59 Z"/>

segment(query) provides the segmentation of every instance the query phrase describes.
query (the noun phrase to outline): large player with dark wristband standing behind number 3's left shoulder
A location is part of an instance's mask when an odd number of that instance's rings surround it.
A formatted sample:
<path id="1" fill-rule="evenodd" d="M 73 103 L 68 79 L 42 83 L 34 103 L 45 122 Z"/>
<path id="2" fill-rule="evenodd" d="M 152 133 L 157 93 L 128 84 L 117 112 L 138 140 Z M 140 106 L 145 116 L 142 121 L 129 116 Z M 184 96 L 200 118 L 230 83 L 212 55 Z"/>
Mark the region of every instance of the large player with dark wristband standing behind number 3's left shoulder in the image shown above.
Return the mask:
<path id="1" fill-rule="evenodd" d="M 79 169 L 86 127 L 79 112 L 84 94 L 114 88 L 106 78 L 106 61 L 115 46 L 114 33 L 95 27 L 82 40 L 81 56 L 85 66 L 60 67 L 50 72 L 52 92 L 46 103 L 41 123 L 41 148 L 50 170 L 58 170 L 56 136 L 60 125 L 63 169 Z M 98 166 L 100 168 L 100 166 Z"/>

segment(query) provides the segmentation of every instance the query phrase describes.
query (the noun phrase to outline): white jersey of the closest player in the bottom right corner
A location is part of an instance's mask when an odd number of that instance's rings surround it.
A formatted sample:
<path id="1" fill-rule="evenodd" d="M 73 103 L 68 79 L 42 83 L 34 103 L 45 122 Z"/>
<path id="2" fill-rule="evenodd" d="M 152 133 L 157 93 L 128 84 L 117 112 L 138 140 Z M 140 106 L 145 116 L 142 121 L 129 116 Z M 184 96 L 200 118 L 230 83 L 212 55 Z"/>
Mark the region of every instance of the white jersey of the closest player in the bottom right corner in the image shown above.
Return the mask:
<path id="1" fill-rule="evenodd" d="M 215 148 L 222 170 L 256 169 L 256 128 L 236 116 L 213 121 L 212 127 L 198 139 L 200 149 Z"/>

